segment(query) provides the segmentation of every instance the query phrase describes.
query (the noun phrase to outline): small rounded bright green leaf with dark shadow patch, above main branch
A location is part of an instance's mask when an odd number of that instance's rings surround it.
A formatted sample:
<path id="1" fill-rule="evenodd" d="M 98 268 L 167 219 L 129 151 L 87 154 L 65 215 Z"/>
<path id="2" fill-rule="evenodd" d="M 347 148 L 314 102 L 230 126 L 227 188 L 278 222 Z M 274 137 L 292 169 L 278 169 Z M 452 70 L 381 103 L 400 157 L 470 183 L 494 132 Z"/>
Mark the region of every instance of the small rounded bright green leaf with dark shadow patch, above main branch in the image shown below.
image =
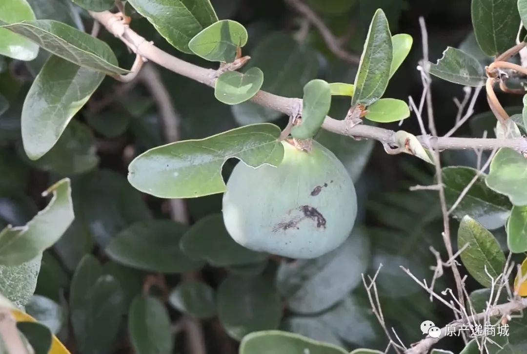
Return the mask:
<path id="1" fill-rule="evenodd" d="M 247 38 L 247 30 L 240 23 L 221 20 L 194 36 L 189 49 L 203 59 L 231 63 L 238 48 L 247 44 Z"/>

